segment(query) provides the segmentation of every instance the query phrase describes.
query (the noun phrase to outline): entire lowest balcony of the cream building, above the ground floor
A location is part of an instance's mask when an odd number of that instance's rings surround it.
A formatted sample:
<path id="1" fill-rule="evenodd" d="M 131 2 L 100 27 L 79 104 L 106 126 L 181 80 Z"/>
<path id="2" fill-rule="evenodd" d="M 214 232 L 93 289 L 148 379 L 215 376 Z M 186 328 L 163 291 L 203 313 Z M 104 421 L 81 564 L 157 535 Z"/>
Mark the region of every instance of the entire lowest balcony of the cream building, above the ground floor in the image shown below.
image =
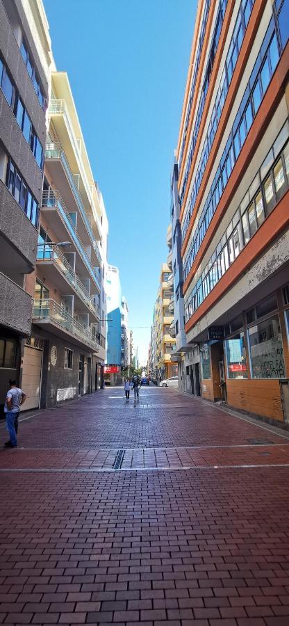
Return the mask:
<path id="1" fill-rule="evenodd" d="M 99 351 L 99 342 L 89 328 L 82 326 L 54 300 L 34 300 L 33 323 L 42 326 L 62 339 L 70 337 L 72 343 L 91 352 Z"/>

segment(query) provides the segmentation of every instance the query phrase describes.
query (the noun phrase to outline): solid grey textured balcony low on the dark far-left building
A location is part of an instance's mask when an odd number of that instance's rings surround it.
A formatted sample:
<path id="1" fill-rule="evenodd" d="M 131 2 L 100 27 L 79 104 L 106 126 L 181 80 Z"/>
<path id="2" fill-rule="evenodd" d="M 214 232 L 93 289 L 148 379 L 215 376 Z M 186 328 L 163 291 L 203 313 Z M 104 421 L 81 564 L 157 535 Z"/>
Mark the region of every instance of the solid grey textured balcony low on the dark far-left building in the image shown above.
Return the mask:
<path id="1" fill-rule="evenodd" d="M 0 272 L 0 324 L 27 336 L 31 332 L 32 298 Z"/>

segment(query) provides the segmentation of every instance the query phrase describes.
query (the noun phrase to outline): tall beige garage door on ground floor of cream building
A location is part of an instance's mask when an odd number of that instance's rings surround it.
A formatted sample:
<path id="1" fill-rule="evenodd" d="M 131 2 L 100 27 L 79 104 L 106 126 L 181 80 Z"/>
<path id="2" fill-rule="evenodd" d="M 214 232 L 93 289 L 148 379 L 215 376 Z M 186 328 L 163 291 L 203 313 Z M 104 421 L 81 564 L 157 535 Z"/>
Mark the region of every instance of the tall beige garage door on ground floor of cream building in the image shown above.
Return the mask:
<path id="1" fill-rule="evenodd" d="M 22 410 L 40 405 L 42 350 L 25 346 L 23 357 L 22 391 L 27 398 Z"/>

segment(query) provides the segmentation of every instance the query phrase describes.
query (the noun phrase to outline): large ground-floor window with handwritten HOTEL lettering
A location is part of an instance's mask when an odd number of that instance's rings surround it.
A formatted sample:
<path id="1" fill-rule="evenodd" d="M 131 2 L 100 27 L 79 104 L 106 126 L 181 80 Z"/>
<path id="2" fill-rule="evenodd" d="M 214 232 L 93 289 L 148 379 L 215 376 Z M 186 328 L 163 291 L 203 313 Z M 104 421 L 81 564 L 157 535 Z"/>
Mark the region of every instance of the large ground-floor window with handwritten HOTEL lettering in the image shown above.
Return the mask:
<path id="1" fill-rule="evenodd" d="M 279 315 L 248 330 L 252 378 L 284 378 L 285 364 Z"/>

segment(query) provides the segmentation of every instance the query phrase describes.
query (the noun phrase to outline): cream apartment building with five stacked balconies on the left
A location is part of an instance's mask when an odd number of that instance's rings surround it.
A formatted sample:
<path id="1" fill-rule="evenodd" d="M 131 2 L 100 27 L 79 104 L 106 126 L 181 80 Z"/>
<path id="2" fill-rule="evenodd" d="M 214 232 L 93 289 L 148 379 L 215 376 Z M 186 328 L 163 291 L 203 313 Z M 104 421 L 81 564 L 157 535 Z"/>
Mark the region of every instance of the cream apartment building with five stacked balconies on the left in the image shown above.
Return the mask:
<path id="1" fill-rule="evenodd" d="M 101 222 L 107 220 L 66 72 L 51 72 L 48 113 L 37 264 L 31 275 L 33 325 L 23 362 L 26 408 L 94 391 L 101 364 L 95 355 L 103 305 Z"/>

